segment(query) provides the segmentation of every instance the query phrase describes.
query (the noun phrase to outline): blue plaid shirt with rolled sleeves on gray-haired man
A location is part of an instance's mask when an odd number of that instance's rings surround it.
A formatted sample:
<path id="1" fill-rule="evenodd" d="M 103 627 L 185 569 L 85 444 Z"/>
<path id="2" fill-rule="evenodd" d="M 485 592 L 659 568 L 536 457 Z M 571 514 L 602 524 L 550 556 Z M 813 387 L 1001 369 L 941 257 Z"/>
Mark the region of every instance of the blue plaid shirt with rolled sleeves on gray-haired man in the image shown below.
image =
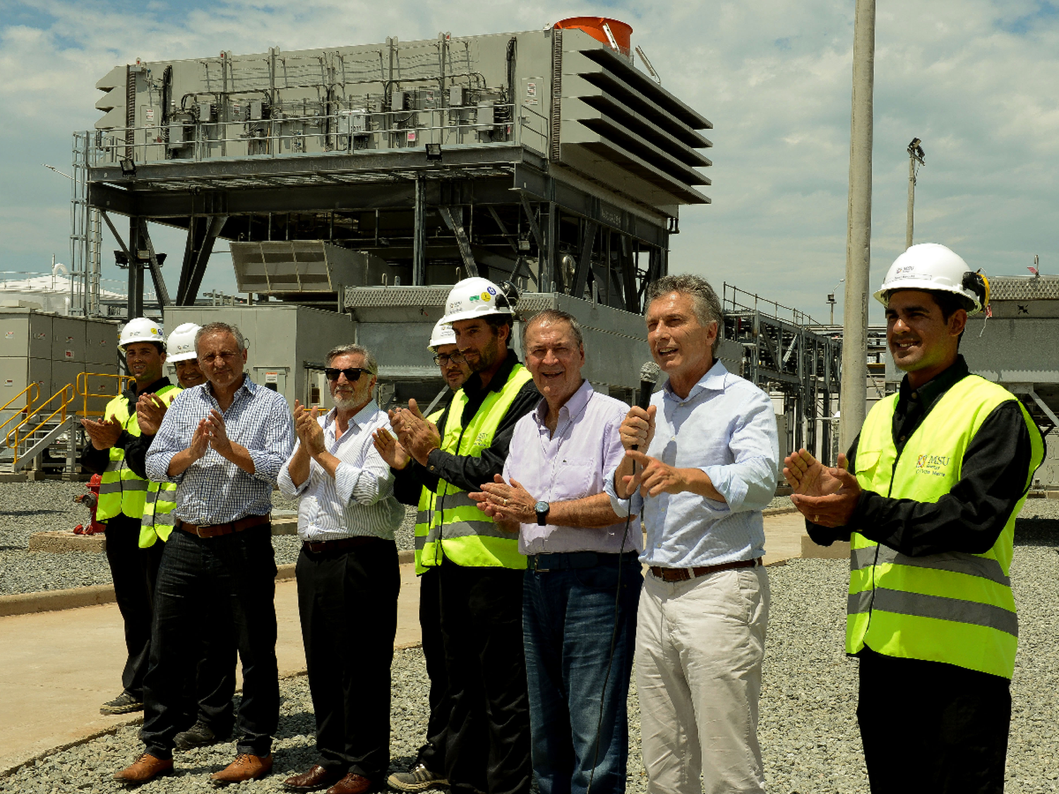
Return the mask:
<path id="1" fill-rule="evenodd" d="M 205 455 L 177 476 L 169 476 L 173 456 L 191 446 L 200 419 L 220 411 L 210 383 L 181 392 L 162 420 L 147 451 L 147 477 L 177 484 L 174 515 L 189 524 L 225 524 L 272 509 L 272 487 L 280 467 L 294 447 L 294 422 L 287 400 L 244 376 L 225 417 L 228 437 L 247 448 L 254 462 L 248 474 L 208 448 Z"/>

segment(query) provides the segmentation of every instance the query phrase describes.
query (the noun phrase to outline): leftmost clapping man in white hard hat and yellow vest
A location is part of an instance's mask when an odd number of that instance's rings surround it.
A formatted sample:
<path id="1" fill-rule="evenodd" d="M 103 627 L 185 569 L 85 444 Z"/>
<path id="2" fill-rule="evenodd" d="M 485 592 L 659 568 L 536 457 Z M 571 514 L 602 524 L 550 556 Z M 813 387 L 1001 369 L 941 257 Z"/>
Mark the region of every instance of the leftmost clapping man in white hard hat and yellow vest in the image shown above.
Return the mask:
<path id="1" fill-rule="evenodd" d="M 103 475 L 96 518 L 106 523 L 107 562 L 114 584 L 114 598 L 125 622 L 128 657 L 122 672 L 122 691 L 100 708 L 103 714 L 127 714 L 143 708 L 143 676 L 150 658 L 150 621 L 155 577 L 162 544 L 140 545 L 140 523 L 148 494 L 154 499 L 158 483 L 133 472 L 126 448 L 141 441 L 137 401 L 155 395 L 168 403 L 180 390 L 163 374 L 165 337 L 150 318 L 130 320 L 118 340 L 134 384 L 107 403 L 98 421 L 85 418 L 90 444 L 82 452 L 83 469 Z"/>

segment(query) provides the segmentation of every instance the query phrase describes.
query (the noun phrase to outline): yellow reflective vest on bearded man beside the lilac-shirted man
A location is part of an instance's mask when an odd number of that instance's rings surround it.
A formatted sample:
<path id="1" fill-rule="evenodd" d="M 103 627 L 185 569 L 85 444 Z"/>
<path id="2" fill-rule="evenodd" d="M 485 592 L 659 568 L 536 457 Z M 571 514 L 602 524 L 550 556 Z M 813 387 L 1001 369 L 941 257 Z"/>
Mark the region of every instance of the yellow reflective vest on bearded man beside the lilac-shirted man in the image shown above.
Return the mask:
<path id="1" fill-rule="evenodd" d="M 492 444 L 492 436 L 507 414 L 519 390 L 531 380 L 522 364 L 511 368 L 507 382 L 499 392 L 489 392 L 482 407 L 464 428 L 463 410 L 467 395 L 461 389 L 449 404 L 449 416 L 442 431 L 442 449 L 457 455 L 480 457 Z M 430 495 L 421 512 L 429 513 L 427 535 L 419 555 L 424 567 L 442 564 L 447 557 L 457 565 L 473 567 L 524 569 L 526 558 L 519 554 L 518 533 L 500 529 L 467 492 L 444 480 L 437 481 L 437 491 Z M 441 509 L 437 509 L 441 507 Z"/>

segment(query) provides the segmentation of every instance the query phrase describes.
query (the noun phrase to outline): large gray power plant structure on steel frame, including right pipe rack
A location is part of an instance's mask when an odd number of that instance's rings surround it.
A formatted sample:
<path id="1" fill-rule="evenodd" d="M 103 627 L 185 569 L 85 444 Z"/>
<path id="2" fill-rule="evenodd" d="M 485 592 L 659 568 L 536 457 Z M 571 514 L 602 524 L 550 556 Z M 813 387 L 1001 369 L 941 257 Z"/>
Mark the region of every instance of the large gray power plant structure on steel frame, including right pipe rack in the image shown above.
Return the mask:
<path id="1" fill-rule="evenodd" d="M 668 272 L 679 209 L 710 202 L 712 125 L 630 34 L 575 18 L 115 67 L 96 84 L 95 129 L 74 136 L 71 313 L 100 313 L 106 227 L 128 318 L 150 277 L 165 327 L 234 320 L 252 377 L 291 402 L 326 404 L 324 353 L 355 339 L 379 359 L 387 404 L 437 393 L 430 330 L 450 286 L 482 275 L 517 287 L 523 320 L 577 317 L 586 377 L 631 401 L 650 358 L 645 289 Z M 186 231 L 165 263 L 180 259 L 179 277 L 163 277 L 148 221 Z M 218 238 L 246 306 L 196 305 Z M 838 343 L 731 311 L 720 357 L 776 396 L 783 446 L 829 448 Z"/>

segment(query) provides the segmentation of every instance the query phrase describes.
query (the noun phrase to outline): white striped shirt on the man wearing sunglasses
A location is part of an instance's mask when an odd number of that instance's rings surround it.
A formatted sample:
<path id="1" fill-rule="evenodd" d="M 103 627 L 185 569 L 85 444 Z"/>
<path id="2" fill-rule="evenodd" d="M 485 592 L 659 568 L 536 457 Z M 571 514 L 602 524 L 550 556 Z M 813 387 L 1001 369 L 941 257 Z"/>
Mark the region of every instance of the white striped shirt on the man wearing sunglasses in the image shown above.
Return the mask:
<path id="1" fill-rule="evenodd" d="M 317 418 L 324 431 L 324 447 L 341 461 L 334 477 L 311 458 L 309 476 L 299 486 L 290 479 L 290 461 L 280 469 L 280 491 L 288 499 L 299 498 L 298 535 L 312 543 L 357 536 L 393 540 L 405 508 L 394 499 L 390 466 L 372 444 L 372 433 L 389 430 L 390 420 L 372 400 L 349 419 L 342 437 L 336 438 L 336 417 L 331 409 Z"/>

